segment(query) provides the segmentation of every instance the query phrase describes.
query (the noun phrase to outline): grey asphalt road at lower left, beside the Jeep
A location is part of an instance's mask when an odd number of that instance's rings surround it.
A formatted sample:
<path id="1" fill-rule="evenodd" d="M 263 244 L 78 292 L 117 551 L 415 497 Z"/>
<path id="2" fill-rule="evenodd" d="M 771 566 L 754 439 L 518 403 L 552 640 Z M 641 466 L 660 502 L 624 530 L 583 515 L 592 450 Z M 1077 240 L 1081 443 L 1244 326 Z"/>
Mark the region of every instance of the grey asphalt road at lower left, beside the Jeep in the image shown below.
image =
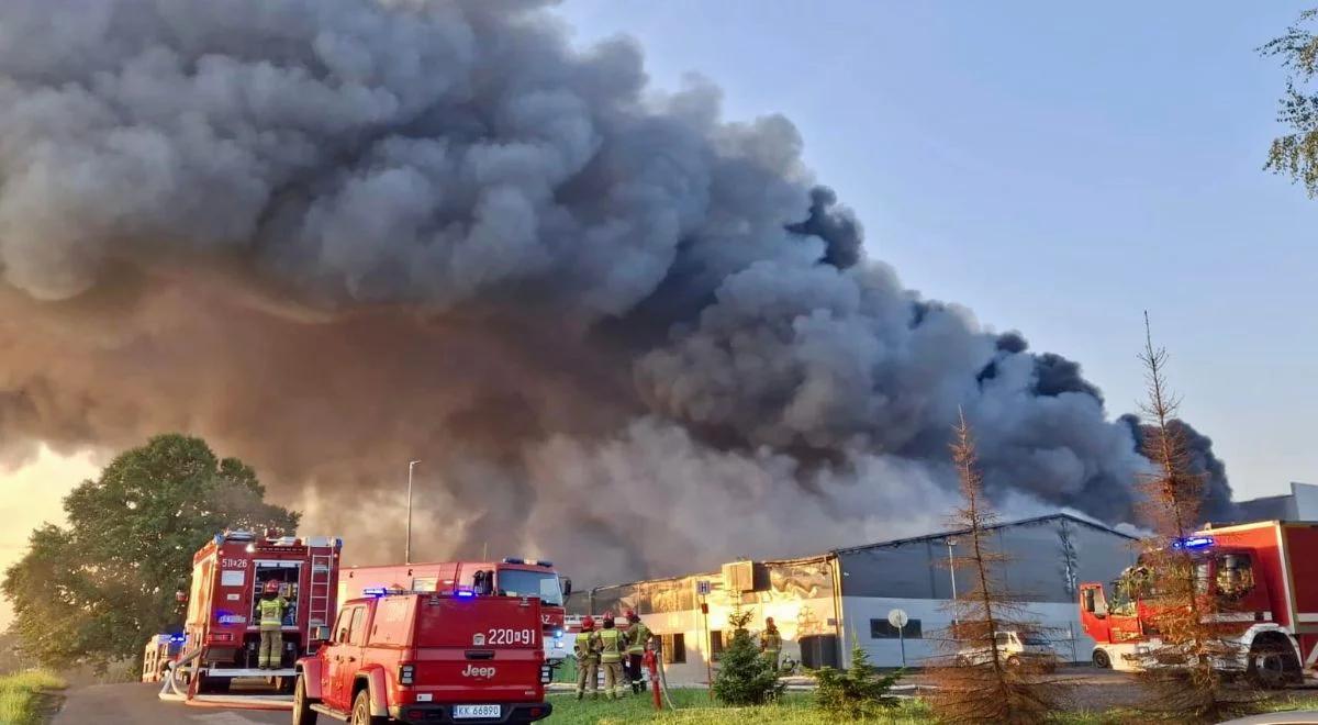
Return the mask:
<path id="1" fill-rule="evenodd" d="M 69 689 L 55 725 L 287 725 L 287 710 L 233 710 L 161 701 L 158 684 L 96 684 Z"/>

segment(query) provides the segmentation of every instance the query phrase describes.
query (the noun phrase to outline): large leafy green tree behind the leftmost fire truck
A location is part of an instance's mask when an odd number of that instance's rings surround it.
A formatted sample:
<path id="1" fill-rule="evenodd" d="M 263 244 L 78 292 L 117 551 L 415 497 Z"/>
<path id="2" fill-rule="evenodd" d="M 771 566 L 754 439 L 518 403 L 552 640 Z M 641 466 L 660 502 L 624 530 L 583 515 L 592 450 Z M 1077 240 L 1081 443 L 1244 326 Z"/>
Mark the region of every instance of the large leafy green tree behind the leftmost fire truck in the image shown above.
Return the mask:
<path id="1" fill-rule="evenodd" d="M 65 497 L 67 526 L 38 527 L 5 572 L 21 649 L 51 667 L 141 656 L 146 637 L 179 627 L 174 593 L 207 539 L 297 529 L 297 513 L 264 498 L 250 467 L 199 438 L 159 435 L 120 453 Z"/>

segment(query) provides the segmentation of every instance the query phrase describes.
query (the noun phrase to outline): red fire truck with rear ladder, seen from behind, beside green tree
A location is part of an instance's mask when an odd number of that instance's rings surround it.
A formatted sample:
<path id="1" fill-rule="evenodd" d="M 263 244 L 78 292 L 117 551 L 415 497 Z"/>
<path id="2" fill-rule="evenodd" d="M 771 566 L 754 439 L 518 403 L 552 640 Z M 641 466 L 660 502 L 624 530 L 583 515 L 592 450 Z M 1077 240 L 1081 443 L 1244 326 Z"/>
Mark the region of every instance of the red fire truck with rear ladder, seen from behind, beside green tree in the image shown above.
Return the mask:
<path id="1" fill-rule="evenodd" d="M 339 587 L 336 536 L 257 536 L 225 531 L 192 556 L 186 643 L 181 662 L 192 663 L 190 691 L 228 689 L 232 678 L 274 678 L 291 688 L 294 663 L 315 651 L 312 638 L 327 629 L 335 613 Z M 287 600 L 283 618 L 283 656 L 277 670 L 257 670 L 261 642 L 257 606 L 266 583 L 277 581 Z"/>

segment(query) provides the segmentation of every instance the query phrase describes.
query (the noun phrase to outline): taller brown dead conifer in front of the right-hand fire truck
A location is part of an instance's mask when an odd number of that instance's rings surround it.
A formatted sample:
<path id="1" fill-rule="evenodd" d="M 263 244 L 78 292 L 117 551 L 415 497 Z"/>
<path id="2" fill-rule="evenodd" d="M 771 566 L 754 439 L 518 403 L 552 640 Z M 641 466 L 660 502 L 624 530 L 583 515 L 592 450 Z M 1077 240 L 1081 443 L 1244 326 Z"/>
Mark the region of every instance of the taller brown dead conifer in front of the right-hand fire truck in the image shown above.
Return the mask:
<path id="1" fill-rule="evenodd" d="M 1149 427 L 1143 453 L 1153 463 L 1139 482 L 1140 510 L 1152 534 L 1123 585 L 1144 602 L 1145 631 L 1155 639 L 1139 656 L 1148 695 L 1141 709 L 1177 722 L 1217 722 L 1251 712 L 1259 696 L 1231 676 L 1246 662 L 1235 638 L 1242 627 L 1231 622 L 1230 602 L 1209 581 L 1213 552 L 1191 543 L 1201 523 L 1203 478 L 1191 473 L 1184 428 L 1174 424 L 1180 398 L 1168 388 L 1168 353 L 1153 347 L 1147 312 L 1139 359 Z"/>

